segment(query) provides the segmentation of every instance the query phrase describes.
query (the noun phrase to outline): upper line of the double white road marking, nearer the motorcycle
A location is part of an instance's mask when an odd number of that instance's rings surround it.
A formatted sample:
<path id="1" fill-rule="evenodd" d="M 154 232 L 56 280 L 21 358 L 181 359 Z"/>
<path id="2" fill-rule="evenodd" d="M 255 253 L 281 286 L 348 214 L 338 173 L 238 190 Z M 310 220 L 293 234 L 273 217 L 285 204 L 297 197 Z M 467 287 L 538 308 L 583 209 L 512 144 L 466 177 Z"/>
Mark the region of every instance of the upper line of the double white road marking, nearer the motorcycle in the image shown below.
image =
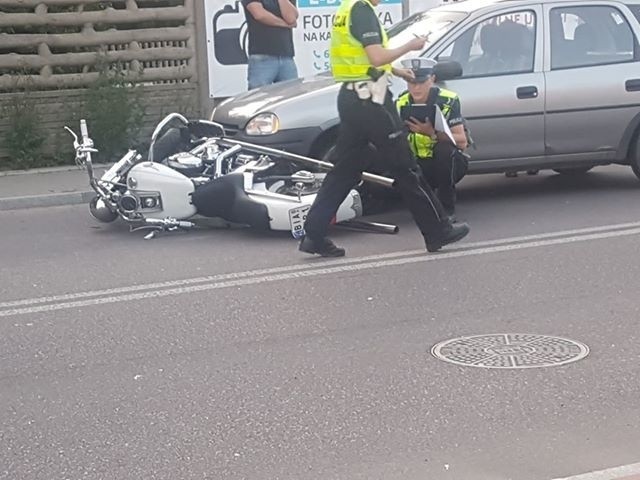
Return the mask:
<path id="1" fill-rule="evenodd" d="M 597 232 L 609 232 L 614 230 L 623 230 L 623 229 L 630 229 L 630 228 L 640 228 L 640 222 L 619 223 L 619 224 L 613 224 L 613 225 L 603 225 L 599 227 L 579 228 L 579 229 L 573 229 L 573 230 L 561 230 L 558 232 L 540 233 L 535 235 L 525 235 L 525 236 L 518 236 L 518 237 L 507 237 L 507 238 L 501 238 L 497 240 L 486 240 L 483 242 L 461 243 L 458 245 L 459 245 L 459 248 L 464 248 L 466 250 L 469 250 L 473 248 L 482 248 L 487 246 L 506 245 L 509 243 L 528 242 L 532 240 L 544 240 L 547 238 L 558 238 L 558 237 L 582 235 L 582 234 L 597 233 Z M 420 249 L 420 250 L 405 250 L 401 252 L 368 255 L 363 257 L 343 258 L 343 259 L 336 259 L 336 260 L 324 259 L 322 260 L 322 266 L 349 265 L 352 263 L 367 262 L 370 260 L 409 257 L 409 256 L 420 255 L 424 253 L 425 253 L 425 250 Z M 76 292 L 76 293 L 68 293 L 63 295 L 52 295 L 47 297 L 25 298 L 22 300 L 11 300 L 7 302 L 0 302 L 0 309 L 8 308 L 8 307 L 26 306 L 26 305 L 37 305 L 40 303 L 61 302 L 65 300 L 76 300 L 81 298 L 100 297 L 104 295 L 115 295 L 119 293 L 139 292 L 143 290 L 155 290 L 155 289 L 163 289 L 163 288 L 169 288 L 169 287 L 180 287 L 184 285 L 194 285 L 198 283 L 211 283 L 211 282 L 217 282 L 221 280 L 253 277 L 257 275 L 269 275 L 273 273 L 310 270 L 310 269 L 317 268 L 318 266 L 319 265 L 315 263 L 286 265 L 282 267 L 249 270 L 245 272 L 223 273 L 218 275 L 208 275 L 204 277 L 186 278 L 182 280 L 170 280 L 166 282 L 148 283 L 148 284 L 142 284 L 142 285 L 128 285 L 125 287 L 115 287 L 115 288 L 108 288 L 104 290 Z"/>

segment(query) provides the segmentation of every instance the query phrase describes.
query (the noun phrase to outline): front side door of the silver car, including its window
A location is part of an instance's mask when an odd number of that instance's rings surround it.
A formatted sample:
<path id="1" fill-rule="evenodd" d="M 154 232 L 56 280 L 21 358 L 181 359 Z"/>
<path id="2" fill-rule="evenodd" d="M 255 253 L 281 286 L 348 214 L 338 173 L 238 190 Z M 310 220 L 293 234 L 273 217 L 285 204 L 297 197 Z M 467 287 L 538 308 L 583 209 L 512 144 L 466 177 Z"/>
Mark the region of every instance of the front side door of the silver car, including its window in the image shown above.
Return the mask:
<path id="1" fill-rule="evenodd" d="M 462 65 L 462 76 L 445 87 L 460 96 L 475 142 L 468 150 L 473 171 L 515 168 L 544 156 L 542 25 L 539 4 L 494 7 L 427 52 Z"/>

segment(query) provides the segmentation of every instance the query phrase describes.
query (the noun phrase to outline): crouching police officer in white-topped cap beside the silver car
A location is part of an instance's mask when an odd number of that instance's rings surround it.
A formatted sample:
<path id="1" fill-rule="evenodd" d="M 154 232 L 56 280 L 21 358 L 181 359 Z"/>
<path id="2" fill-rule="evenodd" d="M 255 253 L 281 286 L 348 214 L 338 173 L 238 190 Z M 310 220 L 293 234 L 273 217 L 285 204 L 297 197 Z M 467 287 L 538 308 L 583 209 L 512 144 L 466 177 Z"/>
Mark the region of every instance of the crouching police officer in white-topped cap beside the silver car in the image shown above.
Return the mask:
<path id="1" fill-rule="evenodd" d="M 434 85 L 435 60 L 413 58 L 401 63 L 412 69 L 414 78 L 407 80 L 408 91 L 396 100 L 398 110 L 402 114 L 403 109 L 411 105 L 438 105 L 455 140 L 453 143 L 445 132 L 436 131 L 428 118 L 408 117 L 405 120 L 409 129 L 409 145 L 418 159 L 424 180 L 436 190 L 447 215 L 455 219 L 455 184 L 464 177 L 468 166 L 463 153 L 467 148 L 467 134 L 460 111 L 460 99 L 456 93 Z"/>

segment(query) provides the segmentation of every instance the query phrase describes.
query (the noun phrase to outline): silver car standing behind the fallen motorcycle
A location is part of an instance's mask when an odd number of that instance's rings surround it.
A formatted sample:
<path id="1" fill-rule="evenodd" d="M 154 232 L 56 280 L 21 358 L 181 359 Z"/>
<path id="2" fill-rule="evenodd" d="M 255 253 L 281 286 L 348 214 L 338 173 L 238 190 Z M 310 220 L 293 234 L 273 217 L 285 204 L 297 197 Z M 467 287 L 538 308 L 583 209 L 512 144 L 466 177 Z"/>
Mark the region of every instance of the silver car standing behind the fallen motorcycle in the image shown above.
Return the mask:
<path id="1" fill-rule="evenodd" d="M 640 0 L 450 3 L 394 25 L 391 46 L 414 34 L 428 36 L 421 55 L 462 66 L 443 86 L 460 95 L 475 142 L 470 172 L 620 163 L 640 178 Z M 338 89 L 320 74 L 233 97 L 211 117 L 236 138 L 324 158 Z"/>

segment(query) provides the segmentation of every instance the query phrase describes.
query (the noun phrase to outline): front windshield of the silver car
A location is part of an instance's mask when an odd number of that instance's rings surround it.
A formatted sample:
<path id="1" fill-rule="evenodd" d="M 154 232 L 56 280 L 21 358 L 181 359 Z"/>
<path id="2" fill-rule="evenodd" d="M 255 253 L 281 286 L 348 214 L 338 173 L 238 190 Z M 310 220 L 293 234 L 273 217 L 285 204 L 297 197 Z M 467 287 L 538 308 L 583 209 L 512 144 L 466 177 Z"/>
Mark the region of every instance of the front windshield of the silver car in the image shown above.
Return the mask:
<path id="1" fill-rule="evenodd" d="M 389 46 L 399 47 L 415 35 L 426 36 L 427 45 L 431 45 L 466 17 L 462 12 L 427 10 L 415 13 L 389 28 Z"/>

